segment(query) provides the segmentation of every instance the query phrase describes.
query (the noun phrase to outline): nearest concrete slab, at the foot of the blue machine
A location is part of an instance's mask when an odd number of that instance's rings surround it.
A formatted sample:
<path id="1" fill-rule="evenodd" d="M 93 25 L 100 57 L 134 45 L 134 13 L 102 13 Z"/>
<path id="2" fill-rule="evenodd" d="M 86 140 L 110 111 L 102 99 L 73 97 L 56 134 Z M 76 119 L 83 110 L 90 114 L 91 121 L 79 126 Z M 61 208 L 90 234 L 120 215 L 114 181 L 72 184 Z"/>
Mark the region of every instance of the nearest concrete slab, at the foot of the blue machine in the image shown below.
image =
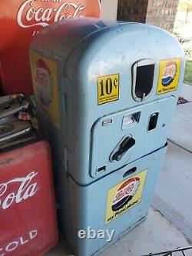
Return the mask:
<path id="1" fill-rule="evenodd" d="M 158 252 L 178 248 L 178 245 L 182 247 L 189 246 L 184 234 L 154 208 L 151 208 L 144 222 L 108 247 L 99 256 L 141 256 L 152 251 Z M 60 245 L 45 255 L 69 256 L 72 254 L 62 238 Z"/>

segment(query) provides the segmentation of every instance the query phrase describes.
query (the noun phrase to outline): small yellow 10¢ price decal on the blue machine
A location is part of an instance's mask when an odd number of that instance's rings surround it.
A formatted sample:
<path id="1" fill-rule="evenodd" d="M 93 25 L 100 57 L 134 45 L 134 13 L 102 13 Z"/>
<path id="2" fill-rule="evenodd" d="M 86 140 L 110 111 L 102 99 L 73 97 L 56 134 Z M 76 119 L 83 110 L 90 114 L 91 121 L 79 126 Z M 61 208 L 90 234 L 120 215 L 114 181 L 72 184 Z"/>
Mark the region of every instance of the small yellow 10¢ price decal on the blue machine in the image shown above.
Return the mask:
<path id="1" fill-rule="evenodd" d="M 98 105 L 119 99 L 119 74 L 98 77 Z"/>

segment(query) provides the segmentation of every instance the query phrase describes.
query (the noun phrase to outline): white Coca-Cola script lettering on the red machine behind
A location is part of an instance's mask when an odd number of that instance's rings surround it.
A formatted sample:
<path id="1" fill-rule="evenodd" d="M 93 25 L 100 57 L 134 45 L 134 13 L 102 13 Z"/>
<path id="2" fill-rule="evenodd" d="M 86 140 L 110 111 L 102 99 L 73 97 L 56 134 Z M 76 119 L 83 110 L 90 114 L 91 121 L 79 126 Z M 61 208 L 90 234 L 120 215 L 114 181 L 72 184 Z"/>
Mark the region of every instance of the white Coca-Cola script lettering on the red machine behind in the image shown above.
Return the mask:
<path id="1" fill-rule="evenodd" d="M 34 1 L 35 0 L 27 0 L 18 9 L 17 21 L 18 25 L 22 28 L 37 25 L 45 27 L 49 25 L 52 18 L 54 18 L 53 22 L 57 22 L 63 18 L 84 17 L 81 13 L 86 6 L 82 3 L 76 5 L 73 2 L 64 2 L 58 8 L 35 8 Z M 72 15 L 69 15 L 68 12 L 71 12 Z M 28 22 L 33 22 L 33 24 L 29 25 L 27 24 Z"/>

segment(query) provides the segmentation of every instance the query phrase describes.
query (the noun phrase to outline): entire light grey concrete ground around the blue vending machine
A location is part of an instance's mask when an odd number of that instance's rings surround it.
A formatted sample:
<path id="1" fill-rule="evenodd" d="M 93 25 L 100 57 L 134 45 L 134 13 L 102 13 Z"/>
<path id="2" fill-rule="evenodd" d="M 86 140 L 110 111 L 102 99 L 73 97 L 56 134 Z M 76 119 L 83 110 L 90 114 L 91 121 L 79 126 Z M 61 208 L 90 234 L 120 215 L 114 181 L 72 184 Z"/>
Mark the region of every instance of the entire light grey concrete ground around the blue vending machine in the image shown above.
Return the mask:
<path id="1" fill-rule="evenodd" d="M 192 86 L 181 96 L 192 101 Z M 101 256 L 141 256 L 192 245 L 192 102 L 177 105 L 170 129 L 164 165 L 147 220 L 134 228 Z M 45 256 L 71 255 L 65 240 Z M 174 256 L 181 256 L 175 253 Z M 186 252 L 192 256 L 192 250 Z"/>

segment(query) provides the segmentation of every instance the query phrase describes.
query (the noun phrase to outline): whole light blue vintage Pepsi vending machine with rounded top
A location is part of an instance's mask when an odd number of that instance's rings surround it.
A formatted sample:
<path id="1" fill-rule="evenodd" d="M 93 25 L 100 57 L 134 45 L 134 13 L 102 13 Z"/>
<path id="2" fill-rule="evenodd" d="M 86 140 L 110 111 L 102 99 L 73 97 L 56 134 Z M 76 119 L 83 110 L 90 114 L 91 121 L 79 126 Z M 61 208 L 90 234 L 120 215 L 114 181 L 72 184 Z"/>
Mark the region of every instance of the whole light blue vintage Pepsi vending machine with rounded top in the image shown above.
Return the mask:
<path id="1" fill-rule="evenodd" d="M 114 230 L 112 243 L 147 216 L 184 52 L 160 28 L 86 18 L 45 28 L 30 58 L 61 230 L 74 254 L 98 253 L 110 243 L 79 232 Z"/>

